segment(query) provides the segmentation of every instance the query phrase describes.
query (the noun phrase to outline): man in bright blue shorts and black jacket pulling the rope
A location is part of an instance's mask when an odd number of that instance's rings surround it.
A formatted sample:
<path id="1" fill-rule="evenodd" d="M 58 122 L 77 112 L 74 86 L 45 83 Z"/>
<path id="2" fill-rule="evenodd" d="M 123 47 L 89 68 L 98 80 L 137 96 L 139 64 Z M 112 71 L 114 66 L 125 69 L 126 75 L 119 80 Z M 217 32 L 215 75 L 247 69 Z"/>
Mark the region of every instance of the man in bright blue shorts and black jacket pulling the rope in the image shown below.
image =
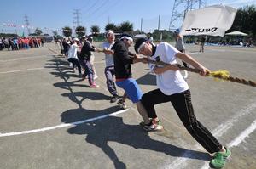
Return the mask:
<path id="1" fill-rule="evenodd" d="M 143 121 L 147 125 L 153 125 L 155 131 L 161 130 L 162 127 L 159 123 L 154 123 L 154 121 L 149 120 L 148 113 L 144 109 L 141 102 L 143 93 L 140 87 L 137 85 L 135 79 L 131 76 L 131 64 L 137 62 L 148 63 L 146 58 L 137 58 L 137 54 L 132 54 L 129 52 L 129 47 L 133 39 L 128 34 L 122 34 L 120 40 L 115 42 L 113 45 L 113 62 L 114 70 L 116 76 L 116 84 L 125 90 L 128 98 L 131 99 L 132 103 L 137 105 L 137 111 L 142 115 Z"/>

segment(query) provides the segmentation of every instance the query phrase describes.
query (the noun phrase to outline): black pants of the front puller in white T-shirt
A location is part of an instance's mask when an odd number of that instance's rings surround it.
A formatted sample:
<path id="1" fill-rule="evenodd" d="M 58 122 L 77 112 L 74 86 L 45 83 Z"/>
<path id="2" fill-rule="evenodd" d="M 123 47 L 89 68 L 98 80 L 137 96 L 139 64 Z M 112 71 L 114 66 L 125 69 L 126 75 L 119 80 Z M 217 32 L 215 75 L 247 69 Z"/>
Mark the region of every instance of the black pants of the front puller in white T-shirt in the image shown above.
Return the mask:
<path id="1" fill-rule="evenodd" d="M 172 106 L 177 112 L 178 117 L 183 122 L 184 127 L 188 130 L 195 140 L 201 144 L 209 153 L 218 152 L 222 145 L 212 136 L 212 133 L 204 127 L 200 121 L 196 120 L 193 106 L 191 103 L 190 91 L 183 93 L 166 95 L 160 89 L 143 94 L 142 103 L 148 112 L 149 118 L 157 117 L 154 105 L 171 101 Z"/>

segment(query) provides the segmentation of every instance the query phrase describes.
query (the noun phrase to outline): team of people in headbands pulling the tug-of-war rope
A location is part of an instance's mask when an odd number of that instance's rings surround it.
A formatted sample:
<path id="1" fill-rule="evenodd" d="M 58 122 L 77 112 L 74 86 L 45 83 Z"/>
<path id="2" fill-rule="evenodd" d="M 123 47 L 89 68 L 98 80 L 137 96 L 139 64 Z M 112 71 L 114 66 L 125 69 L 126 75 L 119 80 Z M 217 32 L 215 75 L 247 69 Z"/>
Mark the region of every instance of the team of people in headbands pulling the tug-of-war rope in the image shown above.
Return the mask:
<path id="1" fill-rule="evenodd" d="M 113 103 L 119 99 L 121 103 L 125 103 L 126 98 L 130 99 L 133 104 L 136 104 L 137 111 L 143 118 L 140 126 L 147 132 L 162 131 L 163 126 L 160 124 L 154 105 L 170 102 L 190 135 L 209 154 L 213 155 L 210 161 L 211 166 L 222 168 L 231 152 L 197 120 L 191 102 L 189 85 L 179 70 L 177 59 L 181 59 L 183 65 L 190 65 L 200 70 L 201 76 L 207 76 L 210 70 L 189 54 L 184 53 L 183 37 L 178 32 L 176 48 L 167 42 L 160 42 L 156 45 L 150 39 L 139 38 L 134 45 L 136 54 L 133 54 L 129 50 L 132 43 L 133 38 L 129 34 L 124 33 L 119 40 L 115 40 L 114 32 L 107 31 L 106 42 L 102 43 L 102 48 L 95 48 L 92 45 L 92 37 L 84 36 L 81 39 L 73 38 L 73 40 L 64 38 L 61 42 L 61 52 L 73 68 L 77 66 L 80 77 L 87 76 L 90 87 L 99 87 L 95 82 L 93 52 L 103 52 L 106 64 L 104 70 L 106 85 L 113 96 L 110 102 Z M 143 57 L 138 54 L 142 54 Z M 160 60 L 168 65 L 149 64 L 148 59 Z M 157 89 L 148 93 L 142 92 L 136 79 L 132 77 L 131 65 L 137 63 L 148 64 L 149 70 L 153 71 L 156 76 Z M 116 86 L 125 91 L 123 97 L 120 97 Z"/>

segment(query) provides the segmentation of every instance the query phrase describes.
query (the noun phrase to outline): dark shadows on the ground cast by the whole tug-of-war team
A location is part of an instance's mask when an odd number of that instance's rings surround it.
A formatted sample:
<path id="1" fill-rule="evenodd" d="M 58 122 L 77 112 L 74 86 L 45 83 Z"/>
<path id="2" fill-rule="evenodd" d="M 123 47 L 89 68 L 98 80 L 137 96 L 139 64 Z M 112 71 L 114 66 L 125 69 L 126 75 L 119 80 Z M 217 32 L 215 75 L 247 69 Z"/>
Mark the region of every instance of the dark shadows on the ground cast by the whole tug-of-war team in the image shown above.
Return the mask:
<path id="1" fill-rule="evenodd" d="M 66 63 L 66 62 L 65 62 Z M 55 87 L 60 87 L 68 91 L 68 93 L 61 94 L 63 97 L 68 97 L 71 101 L 78 105 L 78 109 L 67 110 L 61 114 L 61 121 L 64 123 L 73 123 L 73 127 L 67 129 L 70 134 L 86 135 L 85 141 L 90 144 L 96 145 L 98 148 L 108 155 L 109 159 L 113 161 L 115 168 L 126 168 L 125 161 L 120 161 L 108 142 L 116 142 L 119 144 L 129 145 L 135 149 L 148 149 L 165 153 L 174 157 L 181 157 L 186 152 L 185 158 L 209 160 L 207 153 L 202 153 L 195 150 L 179 148 L 172 144 L 166 144 L 158 140 L 154 140 L 148 136 L 148 132 L 144 132 L 139 125 L 129 125 L 123 122 L 121 117 L 108 116 L 108 118 L 98 119 L 90 122 L 77 122 L 85 121 L 91 118 L 96 118 L 101 115 L 108 115 L 119 110 L 118 106 L 109 107 L 104 110 L 88 110 L 84 109 L 82 103 L 85 99 L 101 100 L 109 99 L 103 93 L 97 92 L 73 92 L 73 87 L 84 87 L 85 85 L 76 84 L 81 80 L 69 82 L 70 71 L 61 68 L 59 59 L 49 60 L 49 67 L 55 71 L 51 72 L 52 75 L 60 77 L 63 82 L 56 82 Z M 155 85 L 155 76 L 147 74 L 137 79 L 139 84 Z M 85 86 L 86 87 L 86 86 Z M 82 99 L 79 99 L 82 98 Z"/>

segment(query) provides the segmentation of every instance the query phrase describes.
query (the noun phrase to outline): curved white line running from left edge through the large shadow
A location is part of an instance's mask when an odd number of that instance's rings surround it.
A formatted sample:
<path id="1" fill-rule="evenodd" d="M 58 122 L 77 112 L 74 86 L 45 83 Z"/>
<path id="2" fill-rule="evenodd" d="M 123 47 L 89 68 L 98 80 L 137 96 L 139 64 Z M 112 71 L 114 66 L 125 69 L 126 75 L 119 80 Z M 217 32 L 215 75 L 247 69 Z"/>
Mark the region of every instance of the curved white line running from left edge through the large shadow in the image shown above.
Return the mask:
<path id="1" fill-rule="evenodd" d="M 62 128 L 62 127 L 71 127 L 71 126 L 82 124 L 84 122 L 96 121 L 96 120 L 99 120 L 99 119 L 106 118 L 108 116 L 119 115 L 121 113 L 125 113 L 125 111 L 127 111 L 127 110 L 129 110 L 129 109 L 119 110 L 119 111 L 113 112 L 113 113 L 108 114 L 108 115 L 101 115 L 101 116 L 97 116 L 97 117 L 87 119 L 87 120 L 84 120 L 84 121 L 76 121 L 76 122 L 72 122 L 72 123 L 61 123 L 60 125 L 57 125 L 57 126 L 54 126 L 54 127 L 44 127 L 44 128 L 34 129 L 34 130 L 27 130 L 27 131 L 23 131 L 23 132 L 0 133 L 0 138 L 1 137 L 7 137 L 7 136 L 16 136 L 16 135 L 22 135 L 22 134 L 29 134 L 29 133 L 34 133 L 34 132 L 45 132 L 45 131 L 55 130 L 57 128 Z"/>

